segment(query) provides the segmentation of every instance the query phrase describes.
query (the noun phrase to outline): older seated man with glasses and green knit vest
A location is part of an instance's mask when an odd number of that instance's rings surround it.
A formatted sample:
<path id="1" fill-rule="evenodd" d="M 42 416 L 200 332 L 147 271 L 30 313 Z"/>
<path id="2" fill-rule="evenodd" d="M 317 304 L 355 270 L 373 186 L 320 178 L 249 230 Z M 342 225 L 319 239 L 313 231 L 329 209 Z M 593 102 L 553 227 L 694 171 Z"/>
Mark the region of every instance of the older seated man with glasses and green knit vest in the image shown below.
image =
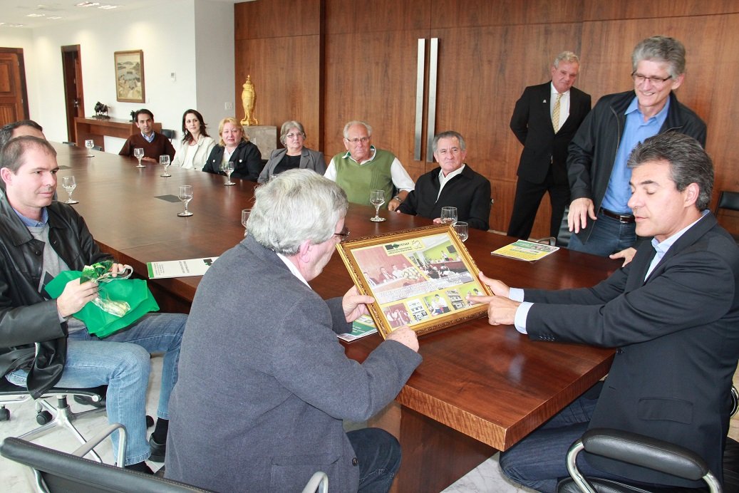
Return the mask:
<path id="1" fill-rule="evenodd" d="M 372 146 L 372 127 L 353 120 L 344 125 L 344 147 L 331 159 L 325 177 L 347 192 L 350 202 L 370 205 L 369 191 L 385 191 L 387 208 L 395 211 L 406 200 L 415 183 L 392 152 Z M 397 191 L 398 193 L 393 195 Z"/>

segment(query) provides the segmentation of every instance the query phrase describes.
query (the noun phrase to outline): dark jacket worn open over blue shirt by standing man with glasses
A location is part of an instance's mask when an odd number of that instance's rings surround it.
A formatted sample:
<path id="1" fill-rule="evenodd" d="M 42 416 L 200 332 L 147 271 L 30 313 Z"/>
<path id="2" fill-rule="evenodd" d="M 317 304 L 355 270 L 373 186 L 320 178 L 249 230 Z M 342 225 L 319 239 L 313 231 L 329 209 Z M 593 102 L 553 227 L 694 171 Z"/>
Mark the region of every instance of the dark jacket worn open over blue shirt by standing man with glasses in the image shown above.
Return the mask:
<path id="1" fill-rule="evenodd" d="M 600 98 L 593 111 L 588 113 L 570 143 L 567 171 L 570 180 L 570 200 L 593 200 L 596 213 L 605 196 L 613 162 L 621 143 L 626 115 L 624 112 L 636 98 L 633 91 L 620 92 Z M 692 109 L 678 102 L 670 92 L 670 109 L 659 133 L 680 132 L 689 135 L 706 146 L 706 123 Z M 581 229 L 577 237 L 585 243 L 593 231 L 593 221 Z"/>

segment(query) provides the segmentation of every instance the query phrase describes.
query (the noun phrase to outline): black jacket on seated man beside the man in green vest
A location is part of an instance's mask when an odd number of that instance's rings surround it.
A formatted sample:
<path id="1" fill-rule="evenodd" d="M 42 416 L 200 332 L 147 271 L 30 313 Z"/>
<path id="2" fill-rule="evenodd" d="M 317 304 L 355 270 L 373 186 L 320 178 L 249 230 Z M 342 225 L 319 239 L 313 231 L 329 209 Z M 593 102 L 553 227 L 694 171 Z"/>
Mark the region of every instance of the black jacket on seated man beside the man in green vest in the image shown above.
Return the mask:
<path id="1" fill-rule="evenodd" d="M 436 219 L 441 208 L 457 208 L 457 219 L 469 223 L 470 228 L 488 229 L 490 221 L 490 181 L 466 165 L 460 174 L 446 183 L 439 195 L 439 168 L 420 175 L 413 191 L 408 194 L 398 211 Z M 437 200 L 438 195 L 438 200 Z"/>

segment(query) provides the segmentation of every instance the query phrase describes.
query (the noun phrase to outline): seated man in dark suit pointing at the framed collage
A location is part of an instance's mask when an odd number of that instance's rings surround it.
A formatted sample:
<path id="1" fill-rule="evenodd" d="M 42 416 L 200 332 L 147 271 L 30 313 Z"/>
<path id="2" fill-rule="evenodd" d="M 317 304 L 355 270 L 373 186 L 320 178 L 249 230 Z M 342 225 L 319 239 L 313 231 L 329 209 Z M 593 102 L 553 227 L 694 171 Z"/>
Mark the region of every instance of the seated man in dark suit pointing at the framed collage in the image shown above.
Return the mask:
<path id="1" fill-rule="evenodd" d="M 729 392 L 739 355 L 739 248 L 708 209 L 710 157 L 677 132 L 637 144 L 627 161 L 638 245 L 633 261 L 593 288 L 517 290 L 480 276 L 495 296 L 491 324 L 515 324 L 535 341 L 616 347 L 607 379 L 500 455 L 506 475 L 554 492 L 568 475 L 568 447 L 592 428 L 676 443 L 722 477 Z M 582 467 L 580 467 L 582 465 Z M 624 463 L 585 455 L 586 476 L 696 487 Z"/>

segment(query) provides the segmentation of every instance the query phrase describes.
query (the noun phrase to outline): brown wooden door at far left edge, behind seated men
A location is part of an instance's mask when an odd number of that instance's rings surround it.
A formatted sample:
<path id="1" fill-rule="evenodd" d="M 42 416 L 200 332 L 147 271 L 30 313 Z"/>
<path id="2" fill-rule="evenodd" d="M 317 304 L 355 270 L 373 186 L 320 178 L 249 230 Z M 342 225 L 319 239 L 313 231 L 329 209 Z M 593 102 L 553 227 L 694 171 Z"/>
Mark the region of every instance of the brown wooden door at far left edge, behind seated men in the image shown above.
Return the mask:
<path id="1" fill-rule="evenodd" d="M 0 125 L 27 118 L 23 49 L 0 48 Z"/>

